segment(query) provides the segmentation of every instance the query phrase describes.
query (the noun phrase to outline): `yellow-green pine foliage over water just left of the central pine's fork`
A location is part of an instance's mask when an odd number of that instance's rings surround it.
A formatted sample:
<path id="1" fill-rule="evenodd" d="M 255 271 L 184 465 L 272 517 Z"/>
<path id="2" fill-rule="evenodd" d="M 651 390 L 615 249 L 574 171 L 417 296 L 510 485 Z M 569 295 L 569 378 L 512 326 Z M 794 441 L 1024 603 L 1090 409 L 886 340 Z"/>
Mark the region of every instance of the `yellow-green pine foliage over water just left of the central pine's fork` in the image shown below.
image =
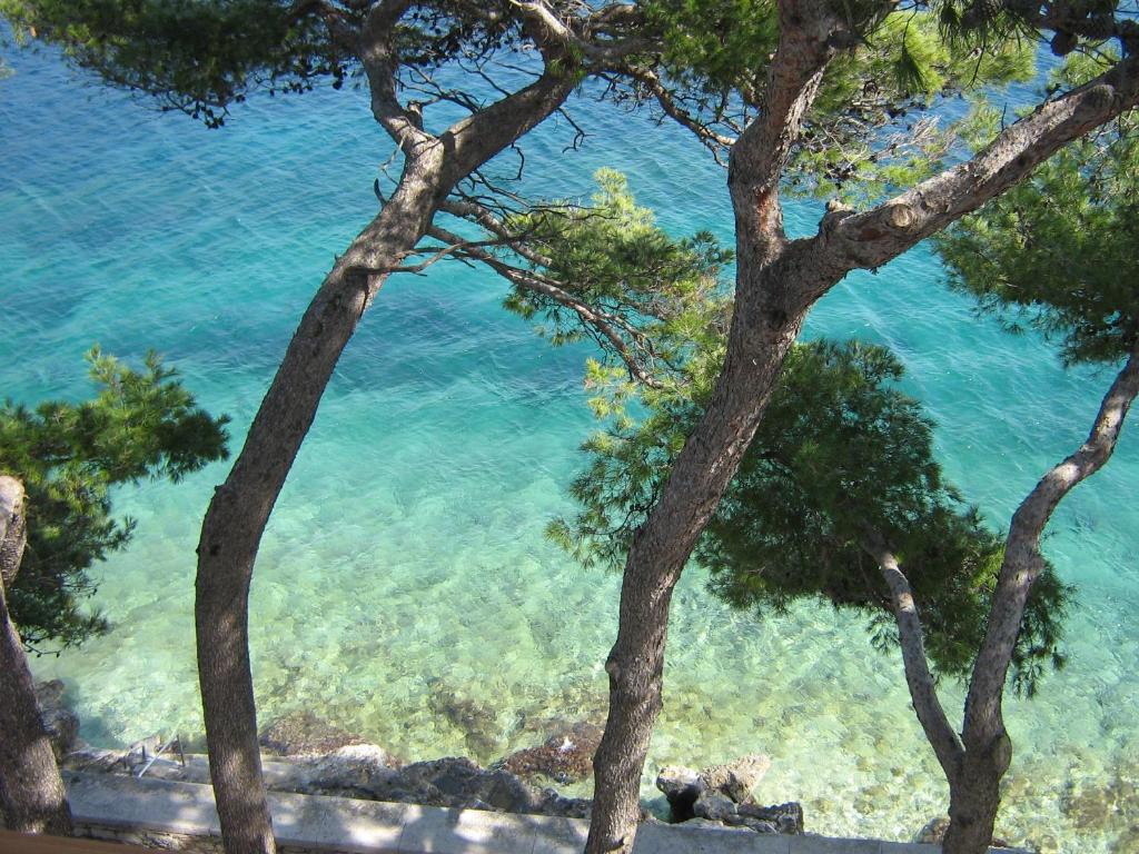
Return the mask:
<path id="1" fill-rule="evenodd" d="M 541 272 L 575 299 L 604 314 L 629 351 L 663 383 L 687 383 L 688 362 L 705 351 L 727 327 L 728 299 L 719 273 L 731 261 L 707 232 L 673 239 L 659 229 L 653 212 L 639 207 L 624 175 L 600 170 L 598 191 L 589 206 L 548 205 L 511 220 L 526 236 L 530 268 Z M 506 307 L 539 318 L 539 332 L 555 345 L 593 338 L 605 363 L 590 367 L 592 386 L 616 392 L 628 371 L 617 364 L 614 345 L 583 322 L 572 306 L 524 287 L 515 287 Z M 631 386 L 624 386 L 631 392 Z M 620 410 L 621 394 L 595 399 L 599 414 Z"/>

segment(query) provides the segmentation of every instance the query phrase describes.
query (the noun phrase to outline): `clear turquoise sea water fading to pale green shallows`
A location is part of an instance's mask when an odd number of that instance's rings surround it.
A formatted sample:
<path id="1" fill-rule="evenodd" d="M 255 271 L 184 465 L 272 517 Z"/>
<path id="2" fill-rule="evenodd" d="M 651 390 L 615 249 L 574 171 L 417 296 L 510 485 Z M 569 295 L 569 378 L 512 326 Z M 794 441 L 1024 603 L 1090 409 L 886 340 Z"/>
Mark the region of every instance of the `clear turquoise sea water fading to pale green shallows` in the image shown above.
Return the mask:
<path id="1" fill-rule="evenodd" d="M 50 57 L 0 83 L 0 393 L 84 393 L 95 340 L 157 347 L 240 436 L 333 254 L 375 210 L 384 139 L 354 93 L 257 100 L 208 132 L 81 87 Z M 622 149 L 642 203 L 677 232 L 730 223 L 723 174 L 687 139 L 599 108 L 527 145 L 534 192 L 581 195 Z M 603 142 L 608 142 L 603 146 Z M 818 211 L 792 213 L 811 228 Z M 587 351 L 549 348 L 465 268 L 392 280 L 337 369 L 262 547 L 252 643 L 263 723 L 319 709 L 408 758 L 491 761 L 551 721 L 604 715 L 617 578 L 542 537 L 593 422 Z M 857 276 L 809 334 L 893 346 L 941 425 L 939 449 L 1000 525 L 1085 434 L 1106 375 L 1070 375 L 1031 337 L 977 322 L 919 249 Z M 236 443 L 235 443 L 236 450 Z M 66 681 L 97 744 L 200 737 L 192 648 L 197 526 L 216 466 L 178 487 L 125 490 L 139 520 L 97 572 L 108 637 L 40 676 Z M 1049 555 L 1079 584 L 1071 664 L 1010 700 L 1016 758 L 1000 832 L 1049 852 L 1139 851 L 1139 442 L 1057 515 Z M 712 600 L 696 570 L 675 597 L 656 767 L 746 752 L 773 759 L 762 797 L 804 802 L 811 829 L 909 838 L 945 803 L 901 665 L 860 621 L 804 603 L 762 622 Z M 951 711 L 959 687 L 947 685 Z"/>

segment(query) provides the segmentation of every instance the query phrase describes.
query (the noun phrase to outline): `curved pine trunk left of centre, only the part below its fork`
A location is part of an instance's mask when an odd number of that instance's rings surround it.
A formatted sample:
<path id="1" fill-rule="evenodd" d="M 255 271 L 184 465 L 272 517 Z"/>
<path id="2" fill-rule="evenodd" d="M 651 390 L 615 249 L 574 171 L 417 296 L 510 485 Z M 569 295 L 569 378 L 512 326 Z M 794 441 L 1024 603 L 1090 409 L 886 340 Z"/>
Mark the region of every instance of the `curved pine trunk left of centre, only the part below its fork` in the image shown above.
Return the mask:
<path id="1" fill-rule="evenodd" d="M 395 266 L 423 237 L 435 202 L 427 174 L 437 172 L 440 161 L 417 161 L 415 170 L 409 165 L 411 174 L 405 173 L 400 190 L 325 279 L 202 526 L 195 600 L 198 675 L 228 854 L 274 851 L 248 644 L 249 582 L 261 535 L 333 369 L 386 276 L 366 271 Z"/>

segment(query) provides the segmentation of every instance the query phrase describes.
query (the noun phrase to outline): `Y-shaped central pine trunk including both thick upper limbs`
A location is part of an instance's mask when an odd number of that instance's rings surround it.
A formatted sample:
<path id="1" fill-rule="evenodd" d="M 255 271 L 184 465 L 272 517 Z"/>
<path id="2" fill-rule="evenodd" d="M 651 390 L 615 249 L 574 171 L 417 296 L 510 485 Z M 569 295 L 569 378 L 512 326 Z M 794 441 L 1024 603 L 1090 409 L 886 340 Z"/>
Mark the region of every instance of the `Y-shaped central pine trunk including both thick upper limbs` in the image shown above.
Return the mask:
<path id="1" fill-rule="evenodd" d="M 822 71 L 850 33 L 823 3 L 785 0 L 779 15 L 765 109 L 731 151 L 737 280 L 724 366 L 625 564 L 617 639 L 606 665 L 609 713 L 595 758 L 589 854 L 632 844 L 640 774 L 661 708 L 672 590 L 738 468 L 810 306 L 849 271 L 885 264 L 1139 99 L 1139 63 L 1129 58 L 1010 125 L 970 161 L 866 213 L 835 206 L 814 237 L 788 241 L 778 182 Z M 974 754 L 977 766 L 985 756 L 992 767 L 1000 765 L 999 739 Z"/>

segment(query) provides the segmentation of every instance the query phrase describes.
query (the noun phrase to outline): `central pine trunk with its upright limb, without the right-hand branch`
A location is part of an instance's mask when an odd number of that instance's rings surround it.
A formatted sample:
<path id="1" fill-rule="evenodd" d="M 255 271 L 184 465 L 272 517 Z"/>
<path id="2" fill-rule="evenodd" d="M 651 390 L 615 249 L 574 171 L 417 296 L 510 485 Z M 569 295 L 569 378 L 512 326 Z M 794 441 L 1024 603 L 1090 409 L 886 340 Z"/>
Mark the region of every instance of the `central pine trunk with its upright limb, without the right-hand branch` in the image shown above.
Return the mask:
<path id="1" fill-rule="evenodd" d="M 606 663 L 609 712 L 593 761 L 590 854 L 631 849 L 641 770 L 661 711 L 672 591 L 739 467 L 810 307 L 801 288 L 784 284 L 813 282 L 820 272 L 801 247 L 786 244 L 777 186 L 830 57 L 831 23 L 820 9 L 795 2 L 782 5 L 780 13 L 812 23 L 806 31 L 784 28 L 770 75 L 779 97 L 732 149 L 729 187 L 739 265 L 728 354 L 712 401 L 625 563 L 617 639 Z"/>

